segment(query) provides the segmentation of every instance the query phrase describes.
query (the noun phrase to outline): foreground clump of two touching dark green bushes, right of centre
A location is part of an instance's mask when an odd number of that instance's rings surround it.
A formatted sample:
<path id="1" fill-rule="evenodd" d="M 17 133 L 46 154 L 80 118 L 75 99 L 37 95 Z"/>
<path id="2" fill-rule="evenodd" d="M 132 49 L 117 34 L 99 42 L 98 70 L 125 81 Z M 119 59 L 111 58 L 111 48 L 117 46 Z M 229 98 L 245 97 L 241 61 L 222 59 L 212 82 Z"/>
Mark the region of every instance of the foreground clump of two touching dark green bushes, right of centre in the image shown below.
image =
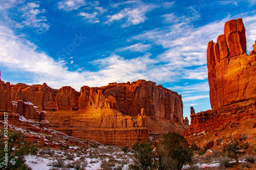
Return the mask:
<path id="1" fill-rule="evenodd" d="M 135 143 L 132 147 L 136 163 L 129 169 L 182 169 L 185 163 L 191 162 L 193 151 L 186 139 L 178 133 L 167 133 L 157 144 L 151 141 Z"/>

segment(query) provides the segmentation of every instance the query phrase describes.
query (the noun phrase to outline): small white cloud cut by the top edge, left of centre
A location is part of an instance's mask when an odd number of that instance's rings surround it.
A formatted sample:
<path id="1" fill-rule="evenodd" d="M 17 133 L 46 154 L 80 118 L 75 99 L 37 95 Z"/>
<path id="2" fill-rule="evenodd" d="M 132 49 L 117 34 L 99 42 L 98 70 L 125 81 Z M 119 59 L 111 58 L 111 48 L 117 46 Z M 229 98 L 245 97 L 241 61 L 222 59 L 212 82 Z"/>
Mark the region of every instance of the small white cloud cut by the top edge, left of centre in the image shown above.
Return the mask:
<path id="1" fill-rule="evenodd" d="M 72 11 L 85 5 L 87 5 L 85 0 L 65 0 L 58 2 L 58 9 Z"/>

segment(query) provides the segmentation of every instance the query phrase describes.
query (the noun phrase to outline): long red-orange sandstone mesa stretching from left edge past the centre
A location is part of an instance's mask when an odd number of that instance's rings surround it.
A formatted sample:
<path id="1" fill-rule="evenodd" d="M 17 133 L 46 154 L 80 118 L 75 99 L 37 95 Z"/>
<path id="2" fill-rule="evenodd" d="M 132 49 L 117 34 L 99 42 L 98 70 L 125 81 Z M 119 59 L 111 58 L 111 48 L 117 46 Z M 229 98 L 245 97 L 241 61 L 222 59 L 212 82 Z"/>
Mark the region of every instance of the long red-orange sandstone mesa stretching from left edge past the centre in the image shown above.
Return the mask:
<path id="1" fill-rule="evenodd" d="M 132 144 L 187 128 L 181 95 L 145 80 L 83 86 L 80 92 L 1 81 L 0 100 L 2 112 L 46 118 L 50 129 L 105 144 Z"/>

